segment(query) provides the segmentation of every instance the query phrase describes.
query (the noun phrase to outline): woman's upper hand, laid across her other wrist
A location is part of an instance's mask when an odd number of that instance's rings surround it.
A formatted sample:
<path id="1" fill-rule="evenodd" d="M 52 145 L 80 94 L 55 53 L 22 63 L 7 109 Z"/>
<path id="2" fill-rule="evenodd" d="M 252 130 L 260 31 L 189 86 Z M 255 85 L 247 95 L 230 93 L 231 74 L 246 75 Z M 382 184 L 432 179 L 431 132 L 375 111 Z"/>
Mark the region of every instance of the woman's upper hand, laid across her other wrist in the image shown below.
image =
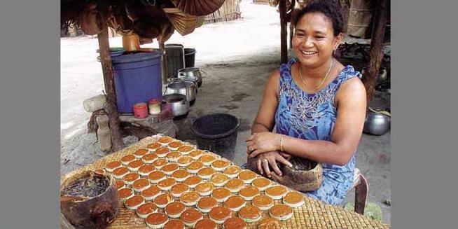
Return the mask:
<path id="1" fill-rule="evenodd" d="M 280 144 L 280 134 L 272 132 L 258 132 L 251 134 L 245 141 L 247 141 L 248 153 L 250 158 L 256 157 L 260 153 L 267 153 L 270 151 L 277 151 Z"/>

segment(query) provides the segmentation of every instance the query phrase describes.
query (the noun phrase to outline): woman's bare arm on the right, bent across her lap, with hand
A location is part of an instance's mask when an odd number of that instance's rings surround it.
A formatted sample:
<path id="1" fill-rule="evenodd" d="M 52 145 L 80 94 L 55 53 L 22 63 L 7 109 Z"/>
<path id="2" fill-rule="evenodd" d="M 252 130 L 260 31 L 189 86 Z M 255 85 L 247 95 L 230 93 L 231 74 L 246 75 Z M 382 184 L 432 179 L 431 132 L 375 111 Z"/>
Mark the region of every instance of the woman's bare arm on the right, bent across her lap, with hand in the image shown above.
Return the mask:
<path id="1" fill-rule="evenodd" d="M 250 154 L 279 150 L 280 138 L 283 138 L 283 151 L 302 158 L 334 165 L 345 165 L 361 139 L 366 116 L 366 89 L 359 78 L 343 83 L 336 95 L 338 106 L 337 120 L 331 141 L 303 140 L 281 134 L 259 133 L 249 137 L 250 147 L 256 150 Z"/>

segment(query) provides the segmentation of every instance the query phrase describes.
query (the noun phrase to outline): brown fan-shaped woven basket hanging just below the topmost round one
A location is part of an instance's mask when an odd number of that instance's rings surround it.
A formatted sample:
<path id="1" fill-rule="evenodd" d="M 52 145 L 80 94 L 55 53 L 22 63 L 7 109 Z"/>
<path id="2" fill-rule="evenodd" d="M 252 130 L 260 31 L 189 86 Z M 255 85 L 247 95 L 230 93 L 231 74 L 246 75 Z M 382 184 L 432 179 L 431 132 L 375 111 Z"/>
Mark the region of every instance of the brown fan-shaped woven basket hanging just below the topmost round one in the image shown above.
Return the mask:
<path id="1" fill-rule="evenodd" d="M 179 8 L 163 8 L 162 10 L 167 13 L 174 29 L 182 36 L 194 32 L 195 27 L 200 26 L 198 25 L 200 17 L 184 13 Z"/>

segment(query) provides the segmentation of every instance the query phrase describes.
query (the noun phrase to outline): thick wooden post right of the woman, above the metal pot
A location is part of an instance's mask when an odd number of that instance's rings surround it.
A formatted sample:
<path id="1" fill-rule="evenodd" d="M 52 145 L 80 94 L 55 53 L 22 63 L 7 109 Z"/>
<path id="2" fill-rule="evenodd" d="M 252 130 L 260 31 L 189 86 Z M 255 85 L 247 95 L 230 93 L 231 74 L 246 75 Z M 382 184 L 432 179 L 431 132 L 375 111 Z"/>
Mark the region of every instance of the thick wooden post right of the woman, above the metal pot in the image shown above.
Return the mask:
<path id="1" fill-rule="evenodd" d="M 374 26 L 372 39 L 370 41 L 369 66 L 366 76 L 363 76 L 363 83 L 366 87 L 367 102 L 374 95 L 375 83 L 377 83 L 378 71 L 383 60 L 383 37 L 385 23 L 387 22 L 388 0 L 378 0 L 374 15 Z"/>

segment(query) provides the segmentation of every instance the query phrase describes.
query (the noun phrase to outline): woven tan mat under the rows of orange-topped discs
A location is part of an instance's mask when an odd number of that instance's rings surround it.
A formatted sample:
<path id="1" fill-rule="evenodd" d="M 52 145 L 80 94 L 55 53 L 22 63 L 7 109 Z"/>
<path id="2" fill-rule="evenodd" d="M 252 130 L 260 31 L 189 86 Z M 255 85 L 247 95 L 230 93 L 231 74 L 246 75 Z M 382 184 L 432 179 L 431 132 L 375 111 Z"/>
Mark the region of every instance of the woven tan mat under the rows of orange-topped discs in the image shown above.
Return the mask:
<path id="1" fill-rule="evenodd" d="M 127 154 L 134 153 L 139 148 L 144 148 L 148 144 L 152 144 L 155 141 L 162 137 L 162 135 L 154 135 L 153 137 L 146 137 L 141 139 L 141 141 L 124 148 L 121 151 L 107 155 L 104 158 L 100 158 L 91 165 L 81 167 L 69 172 L 61 177 L 61 182 L 64 179 L 67 179 L 73 174 L 81 173 L 85 169 L 103 169 L 104 166 L 113 160 L 120 160 L 123 156 Z M 176 139 L 174 139 L 176 140 Z M 179 141 L 179 140 L 176 140 Z M 183 144 L 188 144 L 181 141 Z M 219 156 L 216 155 L 218 158 Z M 219 173 L 219 172 L 216 172 Z M 272 181 L 272 184 L 278 184 Z M 286 187 L 287 190 L 291 190 Z M 192 189 L 191 189 L 192 190 Z M 164 193 L 164 191 L 162 191 Z M 261 194 L 264 192 L 262 191 Z M 178 200 L 179 198 L 175 198 Z M 356 214 L 353 211 L 347 211 L 342 207 L 336 207 L 330 204 L 325 204 L 311 197 L 304 196 L 305 204 L 301 207 L 293 208 L 293 216 L 286 221 L 281 222 L 281 228 L 389 228 L 389 225 L 380 223 L 366 216 Z M 148 200 L 150 201 L 150 200 Z M 282 200 L 275 200 L 275 204 L 282 203 Z M 251 204 L 251 201 L 247 201 L 247 204 Z M 218 203 L 221 206 L 221 203 Z M 116 220 L 111 223 L 109 228 L 148 228 L 143 218 L 139 218 L 135 211 L 129 210 L 124 207 L 124 204 L 120 204 L 120 212 L 116 217 Z M 187 207 L 187 208 L 195 208 Z M 164 211 L 164 209 L 158 208 L 158 211 Z M 208 214 L 203 214 L 204 218 L 208 218 Z M 233 216 L 237 216 L 237 212 L 233 212 Z M 268 210 L 263 211 L 263 216 L 268 217 Z M 218 228 L 222 228 L 221 225 L 218 225 Z M 258 228 L 258 222 L 248 223 L 247 228 Z"/>

